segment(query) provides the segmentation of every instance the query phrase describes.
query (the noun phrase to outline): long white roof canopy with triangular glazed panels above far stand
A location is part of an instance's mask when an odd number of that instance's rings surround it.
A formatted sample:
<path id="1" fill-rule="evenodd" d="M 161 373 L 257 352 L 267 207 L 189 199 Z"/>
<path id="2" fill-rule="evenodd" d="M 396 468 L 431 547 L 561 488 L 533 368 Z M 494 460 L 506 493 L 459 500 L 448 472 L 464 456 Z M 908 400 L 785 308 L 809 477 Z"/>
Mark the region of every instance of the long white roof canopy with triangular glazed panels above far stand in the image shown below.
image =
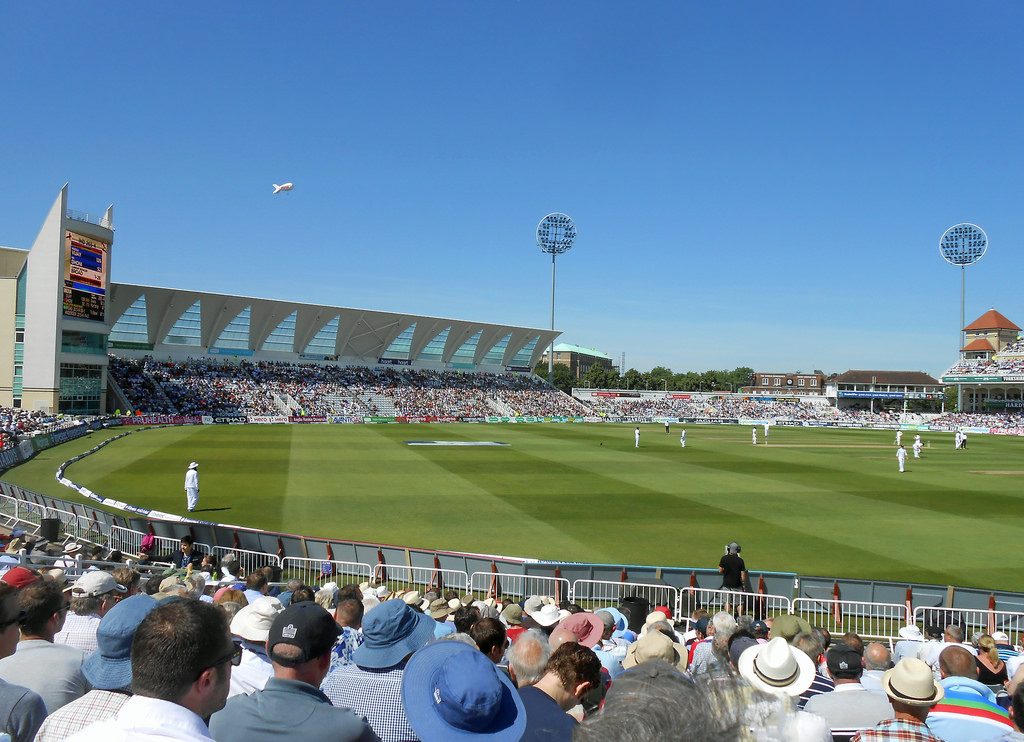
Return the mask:
<path id="1" fill-rule="evenodd" d="M 389 358 L 458 362 L 460 367 L 472 363 L 532 368 L 561 335 L 510 324 L 134 283 L 111 286 L 106 316 L 113 347 L 156 352 L 187 348 L 197 355 L 237 351 L 275 358 L 284 352 L 295 358 L 357 364 Z M 134 342 L 119 343 L 119 338 Z"/>

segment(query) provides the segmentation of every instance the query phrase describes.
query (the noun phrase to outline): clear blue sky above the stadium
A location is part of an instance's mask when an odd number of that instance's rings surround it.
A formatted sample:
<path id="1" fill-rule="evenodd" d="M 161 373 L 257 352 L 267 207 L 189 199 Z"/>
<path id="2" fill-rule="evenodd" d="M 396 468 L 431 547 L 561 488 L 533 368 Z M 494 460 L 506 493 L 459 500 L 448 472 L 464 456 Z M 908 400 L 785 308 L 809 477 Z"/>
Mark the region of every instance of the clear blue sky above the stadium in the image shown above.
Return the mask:
<path id="1" fill-rule="evenodd" d="M 0 245 L 113 279 L 547 328 L 627 367 L 940 374 L 1024 325 L 1024 3 L 8 2 Z M 271 183 L 295 189 L 271 197 Z M 1017 266 L 1017 267 L 1015 267 Z"/>

